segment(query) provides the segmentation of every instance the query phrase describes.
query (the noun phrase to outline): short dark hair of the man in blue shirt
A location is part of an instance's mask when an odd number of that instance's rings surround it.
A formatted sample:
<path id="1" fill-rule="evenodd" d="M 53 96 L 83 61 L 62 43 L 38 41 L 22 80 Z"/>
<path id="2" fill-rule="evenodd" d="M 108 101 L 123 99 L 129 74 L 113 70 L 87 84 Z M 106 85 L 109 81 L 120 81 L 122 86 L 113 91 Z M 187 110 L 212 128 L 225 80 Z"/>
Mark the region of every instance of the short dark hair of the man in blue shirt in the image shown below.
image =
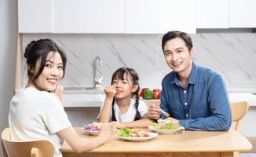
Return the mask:
<path id="1" fill-rule="evenodd" d="M 193 44 L 192 44 L 191 37 L 187 33 L 182 32 L 182 31 L 168 31 L 165 35 L 163 35 L 162 49 L 166 45 L 166 42 L 168 42 L 169 40 L 171 40 L 173 38 L 177 38 L 177 37 L 181 38 L 186 43 L 188 50 L 192 49 Z"/>

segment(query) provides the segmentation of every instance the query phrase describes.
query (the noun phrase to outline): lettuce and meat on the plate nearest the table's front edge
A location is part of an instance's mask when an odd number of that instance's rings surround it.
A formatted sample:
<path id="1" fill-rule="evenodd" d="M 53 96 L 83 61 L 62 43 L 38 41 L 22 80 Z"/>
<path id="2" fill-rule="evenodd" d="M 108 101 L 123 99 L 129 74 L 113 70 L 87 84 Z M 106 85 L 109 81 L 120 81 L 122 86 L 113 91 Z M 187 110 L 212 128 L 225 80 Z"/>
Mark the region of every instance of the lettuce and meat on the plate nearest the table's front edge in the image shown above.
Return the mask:
<path id="1" fill-rule="evenodd" d="M 119 137 L 149 137 L 149 133 L 141 129 L 123 128 L 118 132 Z"/>

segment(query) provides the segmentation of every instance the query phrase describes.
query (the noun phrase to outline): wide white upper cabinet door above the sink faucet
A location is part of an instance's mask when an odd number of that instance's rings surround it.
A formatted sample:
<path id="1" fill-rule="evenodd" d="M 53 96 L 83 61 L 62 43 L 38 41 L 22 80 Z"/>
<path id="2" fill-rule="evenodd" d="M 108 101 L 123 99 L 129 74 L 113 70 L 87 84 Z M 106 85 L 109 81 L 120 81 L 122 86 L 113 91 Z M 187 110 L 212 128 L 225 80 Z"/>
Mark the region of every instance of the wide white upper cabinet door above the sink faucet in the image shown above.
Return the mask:
<path id="1" fill-rule="evenodd" d="M 125 0 L 54 0 L 56 33 L 125 33 Z"/>

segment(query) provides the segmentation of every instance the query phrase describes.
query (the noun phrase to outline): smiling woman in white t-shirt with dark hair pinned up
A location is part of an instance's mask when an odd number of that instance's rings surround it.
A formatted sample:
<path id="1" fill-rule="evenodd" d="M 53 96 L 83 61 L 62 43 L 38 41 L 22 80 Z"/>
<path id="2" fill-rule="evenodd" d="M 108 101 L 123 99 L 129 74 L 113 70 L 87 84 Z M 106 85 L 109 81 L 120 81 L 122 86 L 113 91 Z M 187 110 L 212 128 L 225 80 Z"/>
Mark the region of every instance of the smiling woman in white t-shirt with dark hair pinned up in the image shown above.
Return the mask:
<path id="1" fill-rule="evenodd" d="M 59 85 L 64 77 L 66 54 L 49 39 L 31 42 L 24 57 L 27 59 L 27 86 L 19 89 L 9 106 L 9 128 L 13 140 L 27 141 L 48 139 L 55 146 L 54 156 L 63 140 L 75 150 L 84 152 L 108 141 L 112 133 L 110 124 L 101 126 L 95 138 L 82 138 L 71 127 L 61 99 L 63 90 Z"/>

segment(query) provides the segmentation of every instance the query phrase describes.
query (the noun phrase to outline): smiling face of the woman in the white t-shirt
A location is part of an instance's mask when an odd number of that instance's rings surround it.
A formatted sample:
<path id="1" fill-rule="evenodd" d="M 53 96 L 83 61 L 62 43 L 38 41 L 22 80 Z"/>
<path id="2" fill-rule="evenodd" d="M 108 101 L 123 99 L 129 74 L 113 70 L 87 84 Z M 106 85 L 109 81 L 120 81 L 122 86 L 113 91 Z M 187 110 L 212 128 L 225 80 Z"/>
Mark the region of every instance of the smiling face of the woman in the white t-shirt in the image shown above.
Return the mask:
<path id="1" fill-rule="evenodd" d="M 37 60 L 35 69 L 31 73 L 35 76 L 40 68 L 41 60 Z M 35 85 L 40 90 L 53 92 L 63 77 L 63 63 L 60 53 L 48 53 L 46 65 L 42 73 L 35 79 Z"/>

